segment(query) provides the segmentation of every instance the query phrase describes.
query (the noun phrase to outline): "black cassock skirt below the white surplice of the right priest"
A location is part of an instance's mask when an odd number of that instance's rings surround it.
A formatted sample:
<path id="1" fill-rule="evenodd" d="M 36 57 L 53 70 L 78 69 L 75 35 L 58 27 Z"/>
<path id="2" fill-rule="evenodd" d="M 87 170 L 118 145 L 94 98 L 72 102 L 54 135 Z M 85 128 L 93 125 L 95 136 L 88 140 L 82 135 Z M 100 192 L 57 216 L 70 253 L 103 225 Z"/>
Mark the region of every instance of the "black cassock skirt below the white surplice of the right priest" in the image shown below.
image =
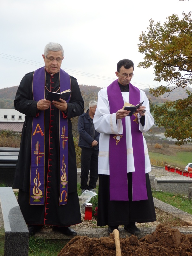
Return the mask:
<path id="1" fill-rule="evenodd" d="M 98 226 L 156 221 L 149 174 L 146 173 L 147 200 L 132 201 L 132 173 L 127 174 L 127 179 L 129 201 L 110 201 L 109 175 L 99 175 Z"/>

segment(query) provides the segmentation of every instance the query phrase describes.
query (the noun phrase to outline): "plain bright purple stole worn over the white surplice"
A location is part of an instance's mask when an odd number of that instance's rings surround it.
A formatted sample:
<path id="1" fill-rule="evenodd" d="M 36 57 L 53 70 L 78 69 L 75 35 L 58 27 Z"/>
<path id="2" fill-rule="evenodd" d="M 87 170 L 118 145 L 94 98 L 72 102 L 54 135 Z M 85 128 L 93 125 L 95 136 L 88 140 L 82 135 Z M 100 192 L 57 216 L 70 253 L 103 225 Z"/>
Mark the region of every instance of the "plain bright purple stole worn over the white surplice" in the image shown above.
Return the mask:
<path id="1" fill-rule="evenodd" d="M 110 113 L 116 113 L 124 105 L 123 96 L 118 84 L 118 79 L 107 87 Z M 130 103 L 137 105 L 140 102 L 140 91 L 129 83 Z M 136 117 L 136 118 L 135 118 Z M 146 178 L 145 178 L 145 154 L 143 135 L 139 131 L 137 116 L 131 117 L 131 134 L 135 172 L 132 172 L 133 201 L 147 200 Z M 127 146 L 126 146 L 126 124 L 122 120 L 123 134 L 110 134 L 109 140 L 109 169 L 110 169 L 110 200 L 129 201 L 127 183 Z"/>

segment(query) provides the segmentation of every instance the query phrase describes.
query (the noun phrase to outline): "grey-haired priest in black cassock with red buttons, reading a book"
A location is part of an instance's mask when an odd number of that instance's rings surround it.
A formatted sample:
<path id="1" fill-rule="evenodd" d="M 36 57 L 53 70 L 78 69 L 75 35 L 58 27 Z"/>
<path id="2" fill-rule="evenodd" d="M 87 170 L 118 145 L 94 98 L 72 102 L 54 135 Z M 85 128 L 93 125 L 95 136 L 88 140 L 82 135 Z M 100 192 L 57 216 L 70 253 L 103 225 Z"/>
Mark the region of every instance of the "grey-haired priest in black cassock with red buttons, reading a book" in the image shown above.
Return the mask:
<path id="1" fill-rule="evenodd" d="M 71 118 L 84 113 L 84 101 L 77 80 L 60 68 L 62 46 L 49 43 L 42 56 L 45 66 L 23 77 L 14 100 L 25 114 L 14 187 L 30 235 L 52 225 L 73 236 L 70 225 L 81 223 L 81 214 Z M 68 100 L 46 100 L 49 91 L 68 89 Z"/>

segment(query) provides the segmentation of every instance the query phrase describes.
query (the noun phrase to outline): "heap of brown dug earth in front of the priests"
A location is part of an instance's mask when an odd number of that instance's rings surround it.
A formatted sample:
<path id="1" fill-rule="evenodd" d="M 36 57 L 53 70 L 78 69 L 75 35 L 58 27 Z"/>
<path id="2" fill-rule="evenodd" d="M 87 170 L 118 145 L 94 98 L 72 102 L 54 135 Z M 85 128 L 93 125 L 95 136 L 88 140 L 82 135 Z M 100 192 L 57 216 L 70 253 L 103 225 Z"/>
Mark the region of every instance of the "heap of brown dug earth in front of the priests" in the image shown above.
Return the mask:
<path id="1" fill-rule="evenodd" d="M 176 228 L 157 226 L 155 232 L 140 240 L 137 236 L 120 238 L 122 256 L 192 256 L 192 234 L 183 235 Z M 88 238 L 75 236 L 58 256 L 116 256 L 114 235 Z"/>

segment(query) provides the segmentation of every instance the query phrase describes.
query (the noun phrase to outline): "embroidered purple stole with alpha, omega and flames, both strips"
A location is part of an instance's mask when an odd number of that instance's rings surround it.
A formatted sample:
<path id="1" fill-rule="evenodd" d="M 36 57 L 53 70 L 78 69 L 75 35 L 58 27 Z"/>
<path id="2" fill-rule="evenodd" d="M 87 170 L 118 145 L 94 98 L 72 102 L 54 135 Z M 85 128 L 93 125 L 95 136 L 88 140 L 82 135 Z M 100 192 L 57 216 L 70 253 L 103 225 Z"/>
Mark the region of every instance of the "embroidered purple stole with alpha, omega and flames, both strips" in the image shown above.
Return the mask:
<path id="1" fill-rule="evenodd" d="M 60 92 L 71 89 L 70 76 L 62 69 L 59 72 Z M 33 99 L 36 101 L 45 98 L 45 79 L 45 67 L 34 72 L 32 89 Z M 58 200 L 59 205 L 64 205 L 67 204 L 68 191 L 68 121 L 63 118 L 62 111 L 59 112 L 60 198 Z M 44 125 L 44 111 L 40 111 L 38 117 L 33 117 L 31 136 L 30 204 L 34 205 L 45 203 Z"/>

